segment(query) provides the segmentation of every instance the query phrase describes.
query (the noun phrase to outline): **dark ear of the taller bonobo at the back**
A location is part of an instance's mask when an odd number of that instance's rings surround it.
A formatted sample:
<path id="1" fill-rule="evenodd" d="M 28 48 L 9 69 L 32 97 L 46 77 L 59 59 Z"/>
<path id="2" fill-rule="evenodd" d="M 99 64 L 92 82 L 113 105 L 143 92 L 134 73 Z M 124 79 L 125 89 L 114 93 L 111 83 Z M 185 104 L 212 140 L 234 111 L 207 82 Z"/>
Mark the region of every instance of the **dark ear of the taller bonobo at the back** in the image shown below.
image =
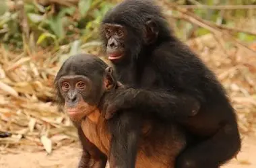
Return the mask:
<path id="1" fill-rule="evenodd" d="M 146 39 L 145 42 L 146 44 L 152 44 L 153 42 L 156 41 L 156 38 L 158 38 L 158 26 L 156 22 L 149 20 L 146 22 Z"/>

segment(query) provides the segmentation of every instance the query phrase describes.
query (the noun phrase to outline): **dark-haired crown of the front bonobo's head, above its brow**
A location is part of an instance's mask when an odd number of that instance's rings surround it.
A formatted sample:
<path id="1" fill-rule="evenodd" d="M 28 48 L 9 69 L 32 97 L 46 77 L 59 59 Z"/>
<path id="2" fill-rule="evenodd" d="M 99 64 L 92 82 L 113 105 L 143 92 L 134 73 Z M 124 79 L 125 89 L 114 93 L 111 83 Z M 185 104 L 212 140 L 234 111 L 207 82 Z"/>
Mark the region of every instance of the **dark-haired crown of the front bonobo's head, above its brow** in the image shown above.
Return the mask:
<path id="1" fill-rule="evenodd" d="M 94 78 L 100 74 L 103 77 L 104 71 L 108 67 L 100 58 L 91 54 L 77 54 L 69 57 L 63 63 L 56 79 L 64 75 L 84 75 Z"/>

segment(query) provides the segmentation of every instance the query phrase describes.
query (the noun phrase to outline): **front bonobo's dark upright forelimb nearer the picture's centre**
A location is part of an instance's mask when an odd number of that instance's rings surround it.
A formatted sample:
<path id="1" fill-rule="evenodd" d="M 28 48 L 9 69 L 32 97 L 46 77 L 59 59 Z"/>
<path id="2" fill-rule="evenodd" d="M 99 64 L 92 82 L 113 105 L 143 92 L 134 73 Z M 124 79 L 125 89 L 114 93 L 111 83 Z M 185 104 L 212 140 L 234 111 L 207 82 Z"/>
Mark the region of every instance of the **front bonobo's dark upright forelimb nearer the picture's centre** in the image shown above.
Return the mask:
<path id="1" fill-rule="evenodd" d="M 141 120 L 136 112 L 120 112 L 108 120 L 112 139 L 110 143 L 110 168 L 134 168 Z"/>

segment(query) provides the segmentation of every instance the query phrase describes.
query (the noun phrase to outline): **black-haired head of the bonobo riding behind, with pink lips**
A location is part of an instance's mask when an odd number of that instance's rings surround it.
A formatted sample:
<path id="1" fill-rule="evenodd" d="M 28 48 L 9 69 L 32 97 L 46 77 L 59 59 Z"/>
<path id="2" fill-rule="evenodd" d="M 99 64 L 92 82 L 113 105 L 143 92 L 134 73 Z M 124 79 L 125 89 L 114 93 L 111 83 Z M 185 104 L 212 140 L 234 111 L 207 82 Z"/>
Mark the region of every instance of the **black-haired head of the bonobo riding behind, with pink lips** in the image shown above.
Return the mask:
<path id="1" fill-rule="evenodd" d="M 136 59 L 170 39 L 160 7 L 150 0 L 126 0 L 106 13 L 101 25 L 103 48 L 112 62 Z"/>

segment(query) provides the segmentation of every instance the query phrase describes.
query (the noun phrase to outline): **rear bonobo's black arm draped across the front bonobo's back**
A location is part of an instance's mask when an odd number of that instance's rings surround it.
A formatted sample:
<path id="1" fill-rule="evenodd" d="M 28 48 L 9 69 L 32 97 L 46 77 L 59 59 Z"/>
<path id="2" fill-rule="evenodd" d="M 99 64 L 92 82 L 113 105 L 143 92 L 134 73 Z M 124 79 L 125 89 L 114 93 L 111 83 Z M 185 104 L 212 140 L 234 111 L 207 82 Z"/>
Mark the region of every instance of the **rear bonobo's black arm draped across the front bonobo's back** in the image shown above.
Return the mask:
<path id="1" fill-rule="evenodd" d="M 119 110 L 139 110 L 152 112 L 160 118 L 183 119 L 195 116 L 200 103 L 185 93 L 147 89 L 117 89 L 105 97 L 102 114 L 106 119 L 112 118 Z"/>

